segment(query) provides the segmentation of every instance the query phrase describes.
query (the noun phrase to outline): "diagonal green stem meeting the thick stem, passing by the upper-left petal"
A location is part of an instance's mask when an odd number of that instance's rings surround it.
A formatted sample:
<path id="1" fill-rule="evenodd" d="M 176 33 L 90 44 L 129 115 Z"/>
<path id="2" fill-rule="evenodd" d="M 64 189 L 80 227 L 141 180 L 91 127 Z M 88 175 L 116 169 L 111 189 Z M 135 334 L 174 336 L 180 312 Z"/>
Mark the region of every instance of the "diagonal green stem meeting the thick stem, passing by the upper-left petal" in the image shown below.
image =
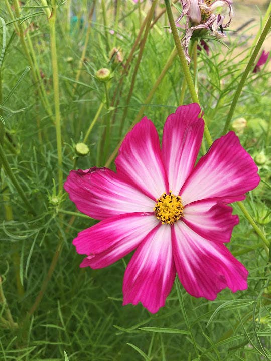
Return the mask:
<path id="1" fill-rule="evenodd" d="M 154 96 L 154 93 L 156 92 L 158 86 L 160 85 L 160 83 L 162 82 L 163 78 L 165 77 L 165 75 L 167 74 L 169 68 L 171 67 L 172 63 L 173 63 L 173 60 L 174 58 L 176 57 L 177 55 L 177 51 L 176 49 L 173 49 L 173 51 L 171 52 L 168 60 L 167 60 L 167 63 L 165 64 L 161 74 L 159 75 L 159 77 L 157 78 L 157 81 L 155 82 L 153 88 L 151 89 L 150 93 L 148 94 L 147 98 L 145 99 L 144 101 L 144 105 L 140 108 L 139 112 L 138 112 L 138 115 L 135 117 L 134 121 L 132 122 L 132 124 L 130 125 L 128 131 L 130 131 L 134 124 L 138 123 L 142 116 L 143 116 L 143 113 L 145 111 L 145 108 L 146 108 L 146 105 L 147 104 L 150 104 L 150 101 L 152 100 L 153 96 Z M 120 142 L 117 144 L 116 148 L 114 149 L 114 151 L 112 152 L 112 154 L 110 155 L 110 157 L 108 158 L 107 162 L 105 163 L 105 167 L 108 167 L 112 161 L 114 160 L 117 152 L 118 152 L 118 149 L 123 141 L 124 137 L 120 140 Z"/>

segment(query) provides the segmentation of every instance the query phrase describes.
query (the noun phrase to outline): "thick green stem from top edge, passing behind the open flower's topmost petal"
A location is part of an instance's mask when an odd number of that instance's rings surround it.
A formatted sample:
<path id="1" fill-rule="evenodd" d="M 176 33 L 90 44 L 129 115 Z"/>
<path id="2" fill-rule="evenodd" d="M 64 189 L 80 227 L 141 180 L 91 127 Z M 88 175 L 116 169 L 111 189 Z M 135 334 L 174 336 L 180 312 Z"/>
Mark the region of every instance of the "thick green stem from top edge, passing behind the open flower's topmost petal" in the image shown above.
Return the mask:
<path id="1" fill-rule="evenodd" d="M 180 62 L 181 62 L 182 68 L 183 68 L 184 76 L 185 76 L 185 79 L 186 79 L 186 83 L 187 83 L 191 98 L 192 98 L 194 103 L 200 104 L 198 94 L 196 92 L 196 89 L 195 89 L 195 86 L 194 86 L 194 83 L 193 83 L 193 79 L 192 79 L 192 76 L 191 76 L 190 71 L 189 71 L 187 60 L 185 58 L 185 53 L 184 53 L 183 47 L 181 45 L 177 29 L 176 29 L 175 21 L 174 21 L 172 10 L 171 10 L 170 0 L 165 0 L 165 4 L 166 4 L 167 14 L 168 14 L 170 27 L 171 27 L 171 31 L 172 31 L 172 36 L 173 36 L 174 43 L 175 43 L 175 46 L 176 46 L 176 49 L 177 49 L 177 53 L 178 53 L 179 58 L 180 58 Z M 207 140 L 208 145 L 211 146 L 213 141 L 212 141 L 211 134 L 209 132 L 209 129 L 208 129 L 207 124 L 206 124 L 205 121 L 204 121 L 204 136 L 205 136 L 205 138 Z"/>

